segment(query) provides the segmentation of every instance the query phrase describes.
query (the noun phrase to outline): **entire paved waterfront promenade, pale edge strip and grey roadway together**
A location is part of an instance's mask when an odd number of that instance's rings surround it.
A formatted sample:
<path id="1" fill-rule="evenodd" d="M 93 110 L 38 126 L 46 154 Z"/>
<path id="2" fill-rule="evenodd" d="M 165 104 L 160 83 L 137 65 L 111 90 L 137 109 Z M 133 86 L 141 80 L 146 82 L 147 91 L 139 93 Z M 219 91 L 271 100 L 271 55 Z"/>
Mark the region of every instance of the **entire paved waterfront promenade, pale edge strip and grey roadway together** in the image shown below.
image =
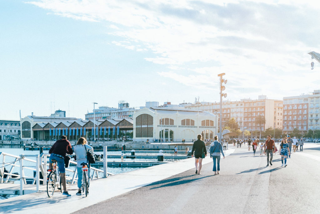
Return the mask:
<path id="1" fill-rule="evenodd" d="M 88 197 L 45 192 L 0 201 L 1 213 L 318 213 L 320 145 L 305 144 L 292 153 L 287 167 L 280 155 L 273 166 L 247 146 L 233 147 L 213 175 L 212 159 L 204 159 L 201 175 L 194 158 L 139 169 L 92 181 Z"/>

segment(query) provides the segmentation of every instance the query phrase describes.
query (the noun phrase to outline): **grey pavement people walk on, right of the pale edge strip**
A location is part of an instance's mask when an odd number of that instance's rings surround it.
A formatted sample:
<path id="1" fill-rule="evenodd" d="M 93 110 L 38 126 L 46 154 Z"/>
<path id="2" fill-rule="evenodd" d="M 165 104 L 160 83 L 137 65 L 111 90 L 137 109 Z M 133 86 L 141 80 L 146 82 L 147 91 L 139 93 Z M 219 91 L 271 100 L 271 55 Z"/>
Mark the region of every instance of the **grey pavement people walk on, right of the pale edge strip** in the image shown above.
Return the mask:
<path id="1" fill-rule="evenodd" d="M 202 175 L 190 169 L 76 213 L 318 213 L 319 150 L 319 144 L 305 145 L 287 167 L 280 167 L 277 153 L 267 167 L 266 155 L 235 148 L 221 159 L 220 175 L 213 175 L 210 161 Z"/>

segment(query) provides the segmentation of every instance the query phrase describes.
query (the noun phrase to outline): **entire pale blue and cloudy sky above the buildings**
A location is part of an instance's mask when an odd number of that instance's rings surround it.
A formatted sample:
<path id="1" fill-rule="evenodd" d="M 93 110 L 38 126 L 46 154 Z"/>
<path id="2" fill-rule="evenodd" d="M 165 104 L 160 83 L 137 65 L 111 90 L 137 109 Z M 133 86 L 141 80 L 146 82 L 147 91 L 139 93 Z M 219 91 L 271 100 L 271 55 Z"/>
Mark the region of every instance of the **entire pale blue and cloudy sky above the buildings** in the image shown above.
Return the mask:
<path id="1" fill-rule="evenodd" d="M 320 4 L 1 0 L 0 119 L 97 106 L 268 99 L 320 89 Z M 311 62 L 315 63 L 311 70 Z"/>

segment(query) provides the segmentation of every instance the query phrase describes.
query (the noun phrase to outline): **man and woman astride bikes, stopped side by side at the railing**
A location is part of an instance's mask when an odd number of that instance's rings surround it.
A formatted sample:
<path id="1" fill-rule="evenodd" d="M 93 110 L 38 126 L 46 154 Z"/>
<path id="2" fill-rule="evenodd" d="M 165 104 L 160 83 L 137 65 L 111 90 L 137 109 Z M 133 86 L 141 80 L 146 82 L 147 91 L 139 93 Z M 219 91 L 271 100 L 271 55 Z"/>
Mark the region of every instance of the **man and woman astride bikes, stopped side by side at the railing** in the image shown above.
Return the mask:
<path id="1" fill-rule="evenodd" d="M 82 185 L 82 163 L 88 163 L 87 160 L 87 151 L 89 151 L 93 155 L 92 146 L 87 144 L 87 140 L 84 137 L 80 137 L 74 146 L 74 152 L 76 154 L 77 161 L 77 174 L 78 174 L 78 192 L 76 195 L 81 195 L 81 185 Z M 56 161 L 60 175 L 61 175 L 61 183 L 63 186 L 63 195 L 71 196 L 71 194 L 67 191 L 67 182 L 66 182 L 66 169 L 65 169 L 65 157 L 66 154 L 73 154 L 73 150 L 70 142 L 67 140 L 67 136 L 61 136 L 61 139 L 56 141 L 51 149 L 49 150 L 50 158 L 49 158 L 49 169 L 48 171 L 52 171 L 52 161 Z M 88 175 L 90 180 L 90 164 L 88 164 Z"/>

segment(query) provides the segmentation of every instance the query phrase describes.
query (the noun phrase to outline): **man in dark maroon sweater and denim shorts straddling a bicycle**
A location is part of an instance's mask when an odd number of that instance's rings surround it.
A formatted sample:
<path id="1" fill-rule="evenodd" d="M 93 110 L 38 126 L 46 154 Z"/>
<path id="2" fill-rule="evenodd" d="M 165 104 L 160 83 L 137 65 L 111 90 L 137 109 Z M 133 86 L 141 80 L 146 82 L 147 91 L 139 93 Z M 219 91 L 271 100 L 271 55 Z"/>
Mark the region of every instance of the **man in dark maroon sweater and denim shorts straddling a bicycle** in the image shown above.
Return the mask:
<path id="1" fill-rule="evenodd" d="M 49 150 L 50 158 L 49 158 L 49 170 L 52 170 L 52 160 L 56 160 L 58 164 L 58 168 L 61 175 L 61 183 L 63 186 L 63 195 L 71 196 L 67 191 L 67 182 L 66 182 L 66 168 L 64 163 L 64 157 L 66 157 L 66 153 L 72 154 L 72 148 L 70 142 L 67 140 L 67 136 L 61 136 L 60 140 L 57 140 L 51 149 Z"/>

